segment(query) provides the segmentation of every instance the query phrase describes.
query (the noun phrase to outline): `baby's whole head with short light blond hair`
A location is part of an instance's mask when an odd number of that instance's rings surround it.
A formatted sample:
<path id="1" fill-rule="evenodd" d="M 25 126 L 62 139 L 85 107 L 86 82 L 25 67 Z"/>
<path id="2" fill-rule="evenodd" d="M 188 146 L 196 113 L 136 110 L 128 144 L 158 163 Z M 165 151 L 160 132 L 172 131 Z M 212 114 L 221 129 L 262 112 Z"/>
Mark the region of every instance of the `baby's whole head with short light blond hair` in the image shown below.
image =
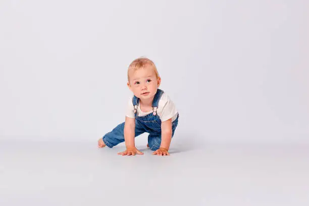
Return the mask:
<path id="1" fill-rule="evenodd" d="M 128 68 L 128 87 L 140 99 L 148 99 L 157 93 L 161 78 L 156 65 L 147 58 L 134 60 Z"/>

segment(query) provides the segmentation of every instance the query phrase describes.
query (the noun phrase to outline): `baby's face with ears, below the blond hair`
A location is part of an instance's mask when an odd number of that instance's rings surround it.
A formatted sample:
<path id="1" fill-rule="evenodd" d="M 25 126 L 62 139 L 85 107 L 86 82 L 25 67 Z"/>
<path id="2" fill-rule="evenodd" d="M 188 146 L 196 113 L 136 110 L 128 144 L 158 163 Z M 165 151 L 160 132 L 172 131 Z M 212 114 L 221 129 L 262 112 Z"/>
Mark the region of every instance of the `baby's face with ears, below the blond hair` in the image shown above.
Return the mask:
<path id="1" fill-rule="evenodd" d="M 161 82 L 161 79 L 157 79 L 155 71 L 150 67 L 132 71 L 129 73 L 129 78 L 130 90 L 140 99 L 153 98 Z"/>

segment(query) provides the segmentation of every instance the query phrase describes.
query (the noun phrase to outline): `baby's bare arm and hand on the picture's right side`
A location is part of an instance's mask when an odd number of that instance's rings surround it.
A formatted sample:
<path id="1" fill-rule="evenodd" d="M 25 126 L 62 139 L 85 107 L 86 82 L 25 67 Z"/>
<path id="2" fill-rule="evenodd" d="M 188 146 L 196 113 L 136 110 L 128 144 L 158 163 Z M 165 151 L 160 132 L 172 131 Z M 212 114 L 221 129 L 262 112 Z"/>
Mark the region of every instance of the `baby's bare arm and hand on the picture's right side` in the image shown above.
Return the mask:
<path id="1" fill-rule="evenodd" d="M 161 123 L 161 145 L 152 155 L 170 155 L 168 152 L 172 140 L 172 118 Z"/>

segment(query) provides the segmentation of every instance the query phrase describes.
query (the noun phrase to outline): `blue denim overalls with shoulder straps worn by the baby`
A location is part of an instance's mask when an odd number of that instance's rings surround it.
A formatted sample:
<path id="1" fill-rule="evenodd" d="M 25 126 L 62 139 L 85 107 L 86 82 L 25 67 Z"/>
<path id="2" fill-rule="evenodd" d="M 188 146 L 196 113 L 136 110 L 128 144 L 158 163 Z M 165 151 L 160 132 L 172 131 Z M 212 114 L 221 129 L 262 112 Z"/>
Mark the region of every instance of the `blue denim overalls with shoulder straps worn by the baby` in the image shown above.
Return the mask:
<path id="1" fill-rule="evenodd" d="M 159 105 L 159 100 L 163 93 L 163 90 L 157 90 L 157 93 L 155 94 L 152 102 L 153 113 L 150 113 L 143 117 L 139 117 L 137 115 L 137 105 L 139 102 L 139 98 L 134 95 L 132 99 L 135 113 L 135 137 L 144 132 L 149 133 L 148 145 L 149 148 L 153 151 L 159 149 L 161 145 L 161 120 L 157 115 L 157 109 Z M 175 129 L 178 124 L 178 118 L 179 114 L 177 115 L 176 120 L 172 122 L 172 137 L 174 136 Z M 117 144 L 125 141 L 124 124 L 124 122 L 119 124 L 111 132 L 108 132 L 103 136 L 102 140 L 108 147 L 116 146 Z"/>

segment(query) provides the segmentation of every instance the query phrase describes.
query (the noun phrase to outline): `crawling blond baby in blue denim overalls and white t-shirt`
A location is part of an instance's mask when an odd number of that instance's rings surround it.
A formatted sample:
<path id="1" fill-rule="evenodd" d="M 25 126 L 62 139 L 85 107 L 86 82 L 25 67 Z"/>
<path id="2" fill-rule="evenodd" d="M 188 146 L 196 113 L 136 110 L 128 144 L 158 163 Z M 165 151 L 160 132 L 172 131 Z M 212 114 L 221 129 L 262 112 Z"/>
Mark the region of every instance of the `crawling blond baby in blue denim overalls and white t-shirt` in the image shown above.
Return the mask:
<path id="1" fill-rule="evenodd" d="M 134 137 L 147 132 L 152 155 L 169 156 L 171 139 L 179 114 L 169 96 L 158 87 L 161 78 L 155 64 L 147 58 L 134 60 L 128 68 L 128 87 L 134 96 L 129 99 L 126 119 L 98 140 L 98 147 L 113 147 L 125 141 L 126 150 L 118 155 L 142 155 Z"/>

